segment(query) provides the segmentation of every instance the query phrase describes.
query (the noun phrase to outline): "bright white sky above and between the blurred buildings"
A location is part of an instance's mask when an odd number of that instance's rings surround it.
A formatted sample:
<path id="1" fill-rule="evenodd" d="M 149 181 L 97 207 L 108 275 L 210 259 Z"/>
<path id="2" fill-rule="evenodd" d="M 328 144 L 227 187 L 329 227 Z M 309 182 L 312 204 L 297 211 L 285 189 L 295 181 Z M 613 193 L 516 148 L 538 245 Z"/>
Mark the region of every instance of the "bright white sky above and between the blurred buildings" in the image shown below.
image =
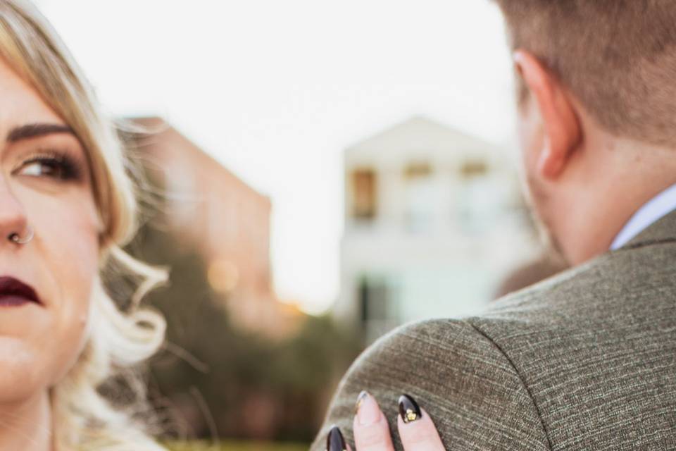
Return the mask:
<path id="1" fill-rule="evenodd" d="M 273 201 L 280 299 L 338 292 L 342 152 L 414 115 L 513 142 L 489 0 L 41 0 L 120 115 L 158 115 Z"/>

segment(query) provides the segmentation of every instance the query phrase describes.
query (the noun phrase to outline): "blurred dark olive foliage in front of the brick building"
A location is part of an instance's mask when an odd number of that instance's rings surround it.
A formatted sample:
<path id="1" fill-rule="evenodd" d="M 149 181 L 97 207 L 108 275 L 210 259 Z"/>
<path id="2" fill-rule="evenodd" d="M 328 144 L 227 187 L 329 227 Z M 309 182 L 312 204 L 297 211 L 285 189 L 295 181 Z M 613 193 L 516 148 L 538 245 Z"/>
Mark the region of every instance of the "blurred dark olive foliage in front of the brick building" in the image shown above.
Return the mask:
<path id="1" fill-rule="evenodd" d="M 272 342 L 240 330 L 223 296 L 208 283 L 201 255 L 168 230 L 162 187 L 144 187 L 142 226 L 125 250 L 168 266 L 170 281 L 144 304 L 167 320 L 163 350 L 148 364 L 151 398 L 173 412 L 178 438 L 262 438 L 310 441 L 339 377 L 361 351 L 360 337 L 329 316 L 307 316 L 296 335 Z M 125 304 L 139 281 L 106 280 Z"/>

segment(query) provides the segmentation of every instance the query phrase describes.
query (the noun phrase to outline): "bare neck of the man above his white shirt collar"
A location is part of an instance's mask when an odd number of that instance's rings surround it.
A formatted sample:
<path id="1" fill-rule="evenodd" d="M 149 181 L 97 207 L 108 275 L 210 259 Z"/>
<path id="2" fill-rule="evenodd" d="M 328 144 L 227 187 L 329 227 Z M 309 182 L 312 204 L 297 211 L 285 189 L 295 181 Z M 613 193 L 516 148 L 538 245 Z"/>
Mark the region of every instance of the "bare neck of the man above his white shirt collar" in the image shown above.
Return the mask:
<path id="1" fill-rule="evenodd" d="M 587 134 L 556 218 L 556 238 L 575 266 L 608 252 L 632 216 L 676 183 L 676 149 Z"/>

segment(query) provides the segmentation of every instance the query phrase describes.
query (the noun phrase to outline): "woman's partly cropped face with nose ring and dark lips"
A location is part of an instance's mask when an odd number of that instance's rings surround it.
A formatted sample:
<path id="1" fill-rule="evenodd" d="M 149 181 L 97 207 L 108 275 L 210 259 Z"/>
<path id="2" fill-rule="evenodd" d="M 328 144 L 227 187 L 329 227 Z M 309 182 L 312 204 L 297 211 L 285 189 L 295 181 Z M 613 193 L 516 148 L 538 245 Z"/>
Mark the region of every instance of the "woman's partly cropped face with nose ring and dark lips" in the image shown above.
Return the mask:
<path id="1" fill-rule="evenodd" d="M 0 277 L 42 300 L 0 305 L 0 404 L 54 385 L 84 345 L 99 229 L 86 154 L 68 130 L 0 58 Z M 26 237 L 27 226 L 30 242 L 8 240 Z"/>

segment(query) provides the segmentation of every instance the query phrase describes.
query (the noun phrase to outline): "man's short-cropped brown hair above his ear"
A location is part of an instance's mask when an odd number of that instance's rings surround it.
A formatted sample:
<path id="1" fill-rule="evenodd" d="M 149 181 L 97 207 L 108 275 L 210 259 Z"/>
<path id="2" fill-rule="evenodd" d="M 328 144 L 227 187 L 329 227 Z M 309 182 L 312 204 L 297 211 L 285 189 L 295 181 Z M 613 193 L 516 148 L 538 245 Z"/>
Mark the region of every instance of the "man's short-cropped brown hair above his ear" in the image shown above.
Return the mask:
<path id="1" fill-rule="evenodd" d="M 676 144 L 676 1 L 496 2 L 511 47 L 537 56 L 604 128 Z"/>

